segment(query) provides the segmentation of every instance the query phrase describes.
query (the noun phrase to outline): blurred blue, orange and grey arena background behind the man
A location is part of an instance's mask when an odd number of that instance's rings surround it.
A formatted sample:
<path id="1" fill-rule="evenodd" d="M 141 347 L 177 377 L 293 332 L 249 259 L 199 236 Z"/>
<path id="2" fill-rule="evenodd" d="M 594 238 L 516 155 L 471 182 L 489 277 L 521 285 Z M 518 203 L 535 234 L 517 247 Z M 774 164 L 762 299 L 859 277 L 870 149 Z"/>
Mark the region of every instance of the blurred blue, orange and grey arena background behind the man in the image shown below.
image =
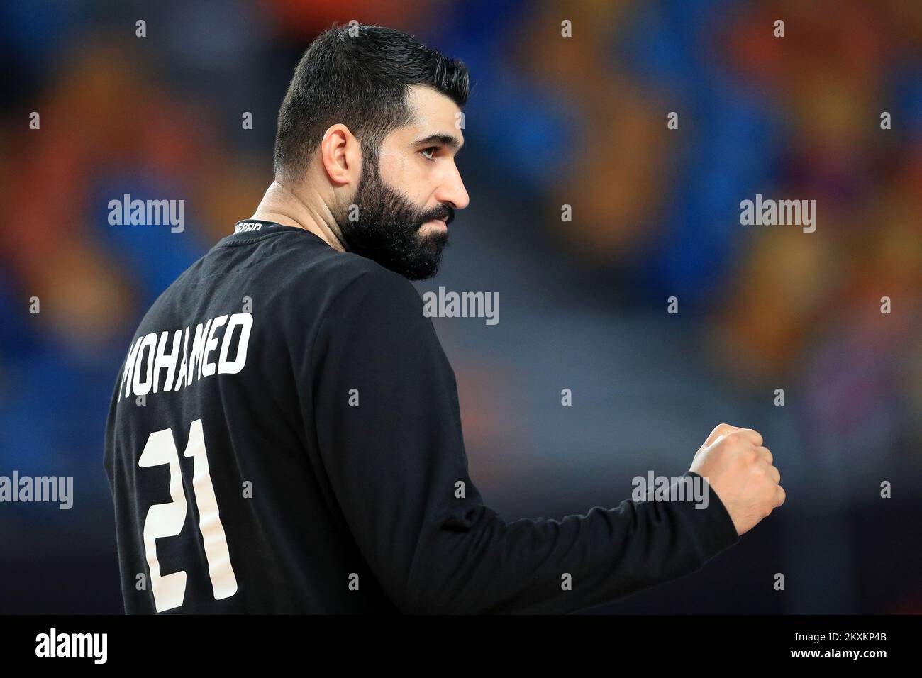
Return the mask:
<path id="1" fill-rule="evenodd" d="M 0 612 L 122 612 L 102 468 L 119 366 L 160 291 L 253 213 L 293 68 L 350 19 L 475 81 L 471 204 L 418 287 L 500 293 L 498 325 L 435 319 L 487 504 L 615 506 L 720 422 L 774 453 L 785 506 L 589 612 L 922 613 L 915 0 L 0 2 L 0 475 L 75 478 L 69 511 L 0 505 Z M 757 193 L 815 199 L 816 232 L 741 226 Z M 110 225 L 124 194 L 184 199 L 185 230 Z"/>

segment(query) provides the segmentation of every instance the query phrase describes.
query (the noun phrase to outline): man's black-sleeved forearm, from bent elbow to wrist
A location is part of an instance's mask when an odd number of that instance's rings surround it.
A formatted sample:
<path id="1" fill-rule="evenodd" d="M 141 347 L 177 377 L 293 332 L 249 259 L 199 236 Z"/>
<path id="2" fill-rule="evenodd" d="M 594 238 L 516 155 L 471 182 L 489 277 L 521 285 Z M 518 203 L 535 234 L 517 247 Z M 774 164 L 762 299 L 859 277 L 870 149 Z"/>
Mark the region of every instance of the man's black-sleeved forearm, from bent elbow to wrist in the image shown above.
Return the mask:
<path id="1" fill-rule="evenodd" d="M 468 505 L 420 530 L 402 607 L 572 613 L 687 575 L 737 540 L 713 492 L 703 509 L 627 500 L 585 516 L 512 523 Z"/>

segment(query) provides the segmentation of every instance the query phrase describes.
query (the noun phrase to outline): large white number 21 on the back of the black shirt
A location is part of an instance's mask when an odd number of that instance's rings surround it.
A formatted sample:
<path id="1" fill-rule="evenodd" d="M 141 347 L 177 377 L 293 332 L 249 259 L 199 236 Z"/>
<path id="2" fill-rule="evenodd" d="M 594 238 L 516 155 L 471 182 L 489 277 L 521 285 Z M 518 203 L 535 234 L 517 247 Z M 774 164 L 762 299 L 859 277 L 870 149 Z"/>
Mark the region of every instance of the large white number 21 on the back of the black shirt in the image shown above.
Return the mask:
<path id="1" fill-rule="evenodd" d="M 237 577 L 234 577 L 228 541 L 218 512 L 218 499 L 208 471 L 208 457 L 205 451 L 205 434 L 202 420 L 196 419 L 189 428 L 189 442 L 183 457 L 193 458 L 192 488 L 195 504 L 198 506 L 198 529 L 202 532 L 205 555 L 208 559 L 208 575 L 215 600 L 230 598 L 237 592 Z M 157 612 L 171 610 L 183 604 L 185 598 L 185 571 L 160 575 L 160 561 L 157 559 L 157 539 L 175 537 L 183 531 L 187 509 L 183 493 L 183 473 L 179 467 L 179 450 L 173 440 L 171 429 L 155 431 L 148 437 L 137 465 L 142 469 L 161 464 L 170 465 L 170 496 L 168 504 L 155 504 L 148 509 L 144 520 L 144 550 L 150 567 L 150 589 L 154 594 Z"/>

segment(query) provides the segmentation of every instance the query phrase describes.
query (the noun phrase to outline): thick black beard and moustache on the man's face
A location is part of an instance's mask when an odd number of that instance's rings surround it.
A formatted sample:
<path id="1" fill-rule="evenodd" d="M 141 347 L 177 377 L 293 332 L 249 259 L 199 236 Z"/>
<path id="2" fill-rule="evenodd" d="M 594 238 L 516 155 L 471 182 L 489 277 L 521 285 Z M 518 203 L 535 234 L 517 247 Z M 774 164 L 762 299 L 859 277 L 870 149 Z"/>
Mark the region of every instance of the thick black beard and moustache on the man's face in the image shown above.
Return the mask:
<path id="1" fill-rule="evenodd" d="M 363 152 L 361 177 L 356 190 L 358 220 L 349 220 L 349 208 L 337 217 L 339 230 L 349 252 L 376 261 L 408 280 L 431 278 L 439 270 L 448 232 L 420 235 L 426 221 L 450 223 L 455 210 L 447 205 L 421 210 L 407 196 L 384 184 L 378 161 Z"/>

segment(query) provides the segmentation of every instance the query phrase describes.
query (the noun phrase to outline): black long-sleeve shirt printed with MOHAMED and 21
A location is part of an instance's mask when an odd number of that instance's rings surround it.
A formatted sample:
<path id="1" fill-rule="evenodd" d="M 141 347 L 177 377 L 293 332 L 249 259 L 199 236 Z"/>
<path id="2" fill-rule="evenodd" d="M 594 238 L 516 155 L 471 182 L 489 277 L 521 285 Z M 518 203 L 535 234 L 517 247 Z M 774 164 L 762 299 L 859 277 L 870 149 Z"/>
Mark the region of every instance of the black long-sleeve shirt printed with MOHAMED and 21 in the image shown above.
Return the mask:
<path id="1" fill-rule="evenodd" d="M 160 296 L 106 430 L 127 613 L 570 613 L 738 541 L 713 490 L 703 509 L 503 520 L 468 475 L 422 305 L 371 260 L 266 221 Z"/>

